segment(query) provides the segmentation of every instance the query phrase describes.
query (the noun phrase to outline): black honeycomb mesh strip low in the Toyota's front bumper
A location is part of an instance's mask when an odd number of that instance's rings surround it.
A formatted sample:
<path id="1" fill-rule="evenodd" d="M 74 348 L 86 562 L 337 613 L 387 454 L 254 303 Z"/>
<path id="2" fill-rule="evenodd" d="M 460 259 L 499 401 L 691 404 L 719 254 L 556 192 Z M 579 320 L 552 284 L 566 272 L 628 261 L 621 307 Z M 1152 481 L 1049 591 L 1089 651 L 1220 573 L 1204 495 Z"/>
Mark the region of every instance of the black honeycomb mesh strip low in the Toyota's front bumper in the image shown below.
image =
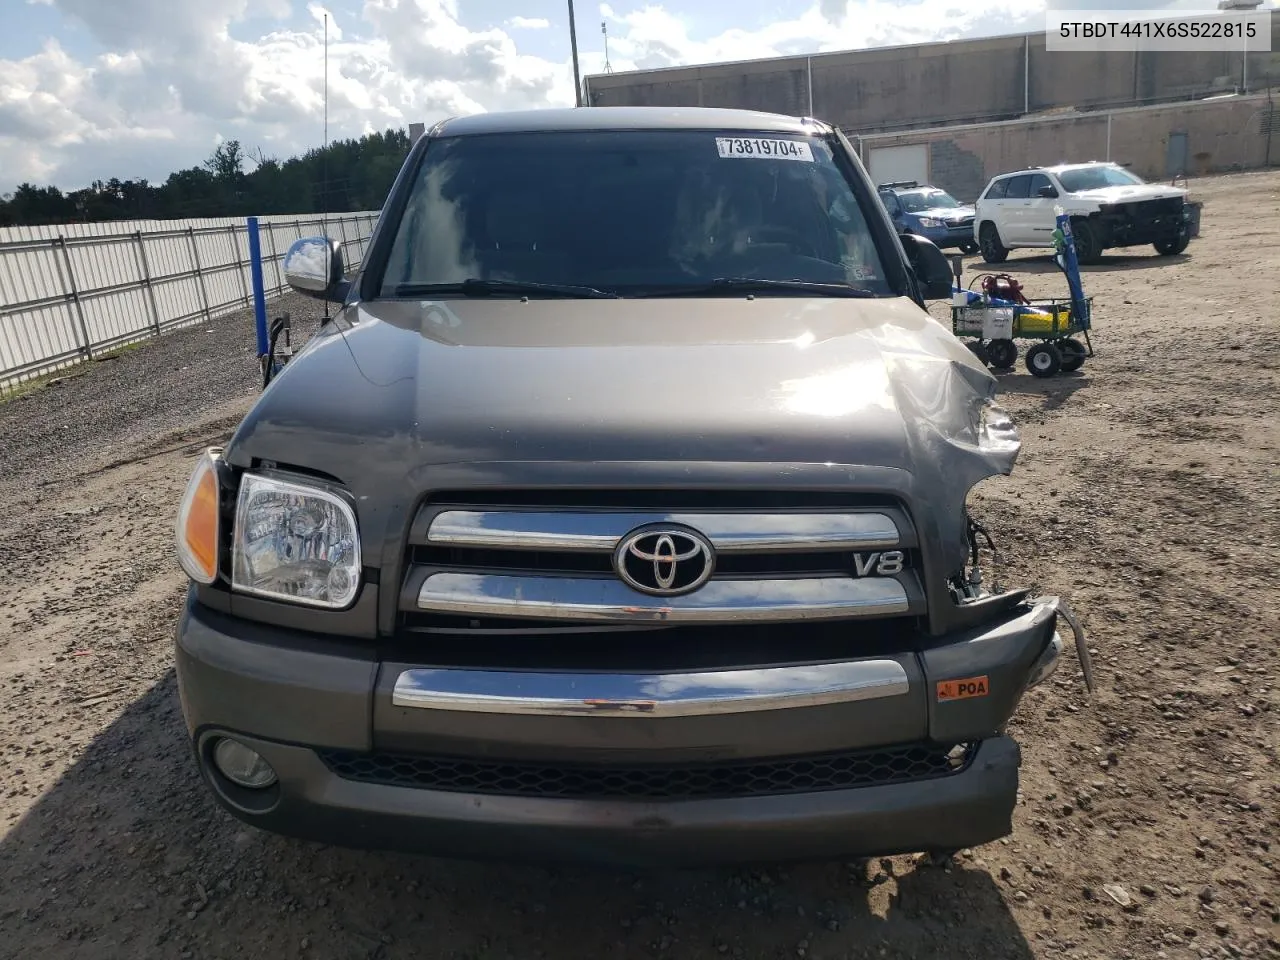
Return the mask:
<path id="1" fill-rule="evenodd" d="M 909 744 L 818 756 L 682 765 L 549 764 L 319 750 L 343 780 L 461 794 L 573 800 L 692 800 L 911 783 L 964 771 L 975 745 Z"/>

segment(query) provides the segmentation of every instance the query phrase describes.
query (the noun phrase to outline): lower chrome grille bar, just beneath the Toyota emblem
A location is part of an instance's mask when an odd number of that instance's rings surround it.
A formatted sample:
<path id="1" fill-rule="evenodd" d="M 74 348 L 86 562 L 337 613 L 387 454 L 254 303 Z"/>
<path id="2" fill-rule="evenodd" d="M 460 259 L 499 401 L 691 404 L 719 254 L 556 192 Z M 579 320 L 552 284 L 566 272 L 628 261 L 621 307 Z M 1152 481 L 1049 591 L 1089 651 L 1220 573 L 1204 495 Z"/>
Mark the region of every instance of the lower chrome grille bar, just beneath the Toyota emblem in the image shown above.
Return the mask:
<path id="1" fill-rule="evenodd" d="M 838 620 L 910 612 L 892 577 L 712 580 L 691 594 L 649 596 L 612 577 L 430 573 L 417 608 L 435 613 L 605 622 L 733 623 Z"/>

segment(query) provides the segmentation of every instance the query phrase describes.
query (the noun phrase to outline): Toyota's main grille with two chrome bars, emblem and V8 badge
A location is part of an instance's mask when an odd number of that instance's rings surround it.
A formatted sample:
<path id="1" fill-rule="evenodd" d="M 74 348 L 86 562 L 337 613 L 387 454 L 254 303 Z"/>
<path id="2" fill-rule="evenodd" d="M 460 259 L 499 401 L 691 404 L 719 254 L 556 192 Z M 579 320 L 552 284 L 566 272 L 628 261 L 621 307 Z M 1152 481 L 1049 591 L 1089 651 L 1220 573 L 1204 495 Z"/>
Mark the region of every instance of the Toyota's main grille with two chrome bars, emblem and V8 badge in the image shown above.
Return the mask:
<path id="1" fill-rule="evenodd" d="M 668 550 L 671 536 L 684 538 L 681 566 L 640 552 L 655 543 L 628 541 L 662 530 Z M 627 543 L 641 559 L 616 561 Z M 882 494 L 504 490 L 477 502 L 440 493 L 410 530 L 399 628 L 534 635 L 539 625 L 579 634 L 914 620 L 924 613 L 919 554 L 905 504 Z M 658 589 L 677 577 L 687 589 Z M 791 654 L 767 662 L 778 657 Z"/>

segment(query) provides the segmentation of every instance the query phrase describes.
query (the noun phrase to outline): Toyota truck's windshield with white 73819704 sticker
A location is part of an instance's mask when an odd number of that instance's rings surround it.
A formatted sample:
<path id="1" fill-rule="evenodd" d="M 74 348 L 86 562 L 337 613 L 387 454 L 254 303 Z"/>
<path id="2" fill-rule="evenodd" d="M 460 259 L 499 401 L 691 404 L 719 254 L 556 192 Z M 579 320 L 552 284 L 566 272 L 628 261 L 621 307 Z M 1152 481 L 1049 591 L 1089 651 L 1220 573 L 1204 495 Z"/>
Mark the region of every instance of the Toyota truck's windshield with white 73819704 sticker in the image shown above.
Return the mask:
<path id="1" fill-rule="evenodd" d="M 380 296 L 724 296 L 745 279 L 774 282 L 755 296 L 892 296 L 823 138 L 443 137 L 416 174 Z"/>

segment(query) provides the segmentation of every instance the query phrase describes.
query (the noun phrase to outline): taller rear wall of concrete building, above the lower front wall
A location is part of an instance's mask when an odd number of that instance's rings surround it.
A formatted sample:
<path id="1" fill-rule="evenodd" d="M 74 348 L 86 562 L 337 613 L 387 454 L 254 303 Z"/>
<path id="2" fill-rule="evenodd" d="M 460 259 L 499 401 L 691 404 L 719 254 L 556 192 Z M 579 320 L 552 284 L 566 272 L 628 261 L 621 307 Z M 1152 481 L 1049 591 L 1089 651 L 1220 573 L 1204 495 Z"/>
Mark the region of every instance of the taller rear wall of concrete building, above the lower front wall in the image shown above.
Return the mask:
<path id="1" fill-rule="evenodd" d="M 731 106 L 818 116 L 873 133 L 1119 109 L 1280 86 L 1272 52 L 1050 52 L 1044 33 L 586 78 L 590 106 Z"/>

